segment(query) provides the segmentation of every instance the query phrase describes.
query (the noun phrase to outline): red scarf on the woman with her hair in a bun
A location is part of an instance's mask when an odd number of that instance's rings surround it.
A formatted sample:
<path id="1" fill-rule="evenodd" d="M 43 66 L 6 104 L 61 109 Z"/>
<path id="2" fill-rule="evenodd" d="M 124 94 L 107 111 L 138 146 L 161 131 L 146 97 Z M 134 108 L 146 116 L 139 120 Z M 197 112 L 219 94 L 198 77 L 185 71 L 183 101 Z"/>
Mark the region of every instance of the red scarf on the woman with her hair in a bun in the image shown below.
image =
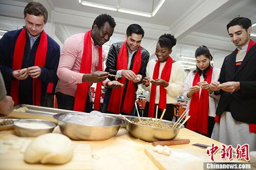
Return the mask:
<path id="1" fill-rule="evenodd" d="M 160 68 L 160 61 L 157 60 L 154 73 L 153 73 L 153 79 L 158 79 L 159 77 L 159 68 Z M 168 57 L 165 65 L 163 67 L 162 73 L 161 73 L 161 79 L 165 80 L 166 82 L 169 82 L 170 80 L 170 73 L 172 72 L 172 66 L 173 66 L 173 58 Z M 151 84 L 151 90 L 150 90 L 150 106 L 148 109 L 148 117 L 155 117 L 155 100 L 156 100 L 156 89 L 157 86 L 155 84 Z M 163 86 L 160 86 L 160 97 L 159 97 L 159 104 L 158 108 L 161 110 L 166 109 L 166 89 L 164 89 Z"/>

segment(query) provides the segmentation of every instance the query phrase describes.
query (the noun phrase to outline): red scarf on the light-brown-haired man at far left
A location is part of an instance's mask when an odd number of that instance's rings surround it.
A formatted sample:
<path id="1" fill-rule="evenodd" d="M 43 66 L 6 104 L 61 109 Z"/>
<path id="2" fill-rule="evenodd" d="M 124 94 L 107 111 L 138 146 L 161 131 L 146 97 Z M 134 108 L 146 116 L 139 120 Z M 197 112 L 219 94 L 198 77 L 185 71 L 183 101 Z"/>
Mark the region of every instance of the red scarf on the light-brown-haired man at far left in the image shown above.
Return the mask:
<path id="1" fill-rule="evenodd" d="M 22 61 L 24 56 L 24 50 L 26 45 L 26 30 L 23 29 L 20 32 L 14 49 L 12 69 L 20 70 L 22 69 Z M 35 63 L 34 66 L 45 67 L 47 54 L 47 34 L 43 30 L 40 36 L 39 45 L 35 53 Z M 41 105 L 41 80 L 39 78 L 33 78 L 33 105 Z M 14 104 L 19 103 L 19 80 L 11 82 L 11 96 Z"/>

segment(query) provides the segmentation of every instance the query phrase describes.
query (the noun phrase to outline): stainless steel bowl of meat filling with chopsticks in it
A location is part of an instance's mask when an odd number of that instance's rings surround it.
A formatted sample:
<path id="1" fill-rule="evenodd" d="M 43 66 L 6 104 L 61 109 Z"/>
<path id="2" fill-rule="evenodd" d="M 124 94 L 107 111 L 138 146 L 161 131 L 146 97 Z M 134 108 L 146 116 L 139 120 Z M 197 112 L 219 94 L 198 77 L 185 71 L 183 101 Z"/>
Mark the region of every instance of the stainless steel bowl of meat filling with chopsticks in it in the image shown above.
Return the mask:
<path id="1" fill-rule="evenodd" d="M 131 121 L 138 122 L 138 118 L 136 117 L 129 117 L 129 119 Z M 142 117 L 141 119 L 155 120 L 154 118 L 147 118 L 147 117 Z M 167 121 L 167 120 L 162 120 L 162 121 L 169 124 L 174 123 L 172 121 Z M 157 127 L 142 125 L 138 123 L 130 123 L 130 122 L 128 122 L 127 124 L 127 130 L 133 137 L 139 138 L 141 140 L 148 141 L 148 142 L 154 142 L 158 140 L 172 140 L 178 135 L 180 129 L 182 128 L 184 128 L 184 125 L 182 125 L 181 128 L 173 129 L 173 128 L 157 128 Z"/>

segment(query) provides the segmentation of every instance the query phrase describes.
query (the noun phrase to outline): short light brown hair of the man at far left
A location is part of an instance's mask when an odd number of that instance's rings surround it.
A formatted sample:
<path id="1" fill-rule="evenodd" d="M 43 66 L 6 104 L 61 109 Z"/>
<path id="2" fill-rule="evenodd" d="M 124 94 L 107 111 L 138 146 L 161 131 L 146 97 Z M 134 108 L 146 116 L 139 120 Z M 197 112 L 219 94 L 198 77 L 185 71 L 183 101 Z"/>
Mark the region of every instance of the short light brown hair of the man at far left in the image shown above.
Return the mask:
<path id="1" fill-rule="evenodd" d="M 24 18 L 26 18 L 27 13 L 30 15 L 35 16 L 44 16 L 44 22 L 46 24 L 48 19 L 48 12 L 44 5 L 38 2 L 30 2 L 27 4 L 27 6 L 24 8 Z"/>

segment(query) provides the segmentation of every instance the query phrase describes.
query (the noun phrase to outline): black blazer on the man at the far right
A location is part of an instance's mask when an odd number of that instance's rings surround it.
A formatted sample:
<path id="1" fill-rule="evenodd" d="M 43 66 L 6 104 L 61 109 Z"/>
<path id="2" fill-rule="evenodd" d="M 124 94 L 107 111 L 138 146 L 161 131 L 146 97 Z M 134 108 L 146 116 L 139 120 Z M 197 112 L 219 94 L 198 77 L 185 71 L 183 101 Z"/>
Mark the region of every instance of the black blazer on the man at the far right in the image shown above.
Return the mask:
<path id="1" fill-rule="evenodd" d="M 221 91 L 216 114 L 228 107 L 235 120 L 256 124 L 256 45 L 246 53 L 242 65 L 235 71 L 236 51 L 225 57 L 219 81 L 239 81 L 240 90 L 234 93 Z"/>

